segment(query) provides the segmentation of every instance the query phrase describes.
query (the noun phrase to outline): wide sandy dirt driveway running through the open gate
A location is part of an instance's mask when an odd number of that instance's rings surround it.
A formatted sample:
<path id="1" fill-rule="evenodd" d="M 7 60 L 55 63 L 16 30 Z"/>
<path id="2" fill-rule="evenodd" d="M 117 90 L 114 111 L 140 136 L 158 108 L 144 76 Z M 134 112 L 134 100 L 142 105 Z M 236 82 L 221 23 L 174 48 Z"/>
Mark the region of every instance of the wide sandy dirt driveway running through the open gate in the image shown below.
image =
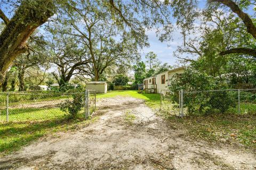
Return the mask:
<path id="1" fill-rule="evenodd" d="M 98 106 L 97 122 L 0 158 L 0 169 L 256 169 L 255 153 L 191 141 L 143 100 L 108 98 Z"/>

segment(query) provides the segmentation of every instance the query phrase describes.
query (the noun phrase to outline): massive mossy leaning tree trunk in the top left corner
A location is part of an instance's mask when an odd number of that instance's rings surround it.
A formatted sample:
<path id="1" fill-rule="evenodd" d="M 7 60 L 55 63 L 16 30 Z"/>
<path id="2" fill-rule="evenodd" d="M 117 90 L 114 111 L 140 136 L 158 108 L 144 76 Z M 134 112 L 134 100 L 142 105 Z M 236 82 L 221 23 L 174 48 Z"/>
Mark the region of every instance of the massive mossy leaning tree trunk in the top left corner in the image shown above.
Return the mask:
<path id="1" fill-rule="evenodd" d="M 22 1 L 0 35 L 0 85 L 13 60 L 27 51 L 26 41 L 39 25 L 53 15 L 52 0 Z"/>

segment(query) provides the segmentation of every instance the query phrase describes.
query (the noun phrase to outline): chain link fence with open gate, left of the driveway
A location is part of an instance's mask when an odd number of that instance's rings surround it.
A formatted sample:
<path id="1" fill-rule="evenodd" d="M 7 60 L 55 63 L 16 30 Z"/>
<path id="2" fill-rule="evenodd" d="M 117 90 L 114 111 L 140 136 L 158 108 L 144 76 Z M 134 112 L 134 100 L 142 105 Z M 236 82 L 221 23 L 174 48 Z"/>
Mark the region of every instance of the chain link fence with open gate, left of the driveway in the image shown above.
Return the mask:
<path id="1" fill-rule="evenodd" d="M 61 104 L 78 97 L 83 109 L 79 114 L 86 118 L 93 114 L 96 107 L 95 90 L 85 92 L 60 93 L 52 91 L 22 91 L 0 93 L 0 122 L 47 120 L 66 114 L 61 111 Z"/>

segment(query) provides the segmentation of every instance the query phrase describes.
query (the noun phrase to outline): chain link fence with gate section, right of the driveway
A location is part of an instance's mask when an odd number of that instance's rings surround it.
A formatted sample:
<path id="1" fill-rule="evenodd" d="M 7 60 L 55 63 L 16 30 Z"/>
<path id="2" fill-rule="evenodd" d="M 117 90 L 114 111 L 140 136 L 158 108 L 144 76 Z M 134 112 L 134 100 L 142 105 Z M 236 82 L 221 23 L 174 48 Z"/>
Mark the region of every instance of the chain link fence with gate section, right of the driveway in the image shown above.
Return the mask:
<path id="1" fill-rule="evenodd" d="M 172 115 L 256 112 L 256 89 L 161 91 L 161 109 Z"/>

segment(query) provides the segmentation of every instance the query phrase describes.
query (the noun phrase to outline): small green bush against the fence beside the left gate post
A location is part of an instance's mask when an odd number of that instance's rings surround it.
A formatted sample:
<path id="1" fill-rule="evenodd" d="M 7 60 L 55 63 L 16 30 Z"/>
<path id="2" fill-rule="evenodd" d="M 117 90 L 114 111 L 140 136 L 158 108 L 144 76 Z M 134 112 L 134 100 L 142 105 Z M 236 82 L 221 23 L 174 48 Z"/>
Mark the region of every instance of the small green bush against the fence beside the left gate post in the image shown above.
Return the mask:
<path id="1" fill-rule="evenodd" d="M 60 110 L 69 114 L 70 118 L 77 117 L 79 111 L 83 108 L 84 96 L 83 94 L 72 95 L 73 100 L 67 99 L 60 104 Z"/>

